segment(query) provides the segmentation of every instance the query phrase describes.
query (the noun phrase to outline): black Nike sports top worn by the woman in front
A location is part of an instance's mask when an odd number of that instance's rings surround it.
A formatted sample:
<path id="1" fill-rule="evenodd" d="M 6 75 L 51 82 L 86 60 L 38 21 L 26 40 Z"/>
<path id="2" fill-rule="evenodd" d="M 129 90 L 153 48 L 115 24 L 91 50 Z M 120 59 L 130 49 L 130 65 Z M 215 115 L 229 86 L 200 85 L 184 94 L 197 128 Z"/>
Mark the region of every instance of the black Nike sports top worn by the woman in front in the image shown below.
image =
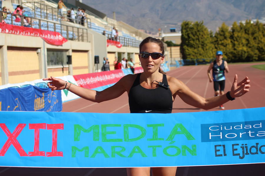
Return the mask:
<path id="1" fill-rule="evenodd" d="M 146 89 L 140 85 L 140 75 L 137 75 L 129 92 L 131 113 L 171 113 L 173 102 L 170 89 Z M 163 75 L 162 82 L 168 84 L 166 75 Z"/>

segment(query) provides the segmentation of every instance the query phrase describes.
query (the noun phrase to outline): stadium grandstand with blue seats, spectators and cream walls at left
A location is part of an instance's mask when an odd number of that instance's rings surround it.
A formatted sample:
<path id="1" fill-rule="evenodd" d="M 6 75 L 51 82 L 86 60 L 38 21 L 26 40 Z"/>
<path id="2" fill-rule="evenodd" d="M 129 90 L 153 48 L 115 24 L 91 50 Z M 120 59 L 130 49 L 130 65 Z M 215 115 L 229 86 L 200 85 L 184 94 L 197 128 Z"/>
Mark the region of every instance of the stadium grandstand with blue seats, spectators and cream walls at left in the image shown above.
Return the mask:
<path id="1" fill-rule="evenodd" d="M 64 1 L 61 16 L 58 2 L 3 1 L 2 7 L 10 11 L 0 11 L 0 85 L 100 72 L 103 57 L 110 70 L 115 57 L 132 58 L 138 65 L 138 47 L 148 34 L 117 21 L 115 13 L 109 18 L 80 1 Z M 23 7 L 22 14 L 16 13 L 18 6 Z M 77 17 L 79 8 L 84 9 L 82 18 Z M 71 9 L 74 13 L 67 14 Z M 118 31 L 115 39 L 113 28 Z"/>

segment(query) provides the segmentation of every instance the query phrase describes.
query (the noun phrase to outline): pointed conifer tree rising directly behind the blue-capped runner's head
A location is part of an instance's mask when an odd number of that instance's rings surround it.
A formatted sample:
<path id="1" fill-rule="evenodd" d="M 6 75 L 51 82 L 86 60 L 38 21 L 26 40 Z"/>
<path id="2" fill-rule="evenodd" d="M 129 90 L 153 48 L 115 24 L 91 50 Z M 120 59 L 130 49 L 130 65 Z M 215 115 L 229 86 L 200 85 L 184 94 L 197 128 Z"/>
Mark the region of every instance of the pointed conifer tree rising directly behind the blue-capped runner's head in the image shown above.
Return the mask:
<path id="1" fill-rule="evenodd" d="M 223 51 L 223 57 L 227 58 L 229 62 L 232 58 L 231 56 L 231 32 L 229 31 L 229 27 L 226 26 L 225 23 L 222 23 L 221 27 L 218 28 L 218 31 L 213 36 L 213 44 L 216 51 Z"/>

